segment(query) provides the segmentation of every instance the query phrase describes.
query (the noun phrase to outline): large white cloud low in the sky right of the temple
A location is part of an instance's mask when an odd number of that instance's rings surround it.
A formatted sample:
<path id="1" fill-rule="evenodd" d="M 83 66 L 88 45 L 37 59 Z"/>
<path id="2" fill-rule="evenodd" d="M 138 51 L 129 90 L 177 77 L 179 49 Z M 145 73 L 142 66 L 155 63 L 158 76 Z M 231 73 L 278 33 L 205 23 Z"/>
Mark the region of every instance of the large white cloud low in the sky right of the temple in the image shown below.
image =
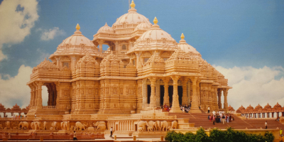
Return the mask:
<path id="1" fill-rule="evenodd" d="M 224 68 L 214 66 L 229 80 L 228 104 L 234 109 L 239 109 L 241 105 L 262 107 L 267 103 L 273 107 L 277 102 L 284 105 L 284 69 L 283 67 L 233 67 Z M 276 80 L 282 75 L 279 80 Z"/>

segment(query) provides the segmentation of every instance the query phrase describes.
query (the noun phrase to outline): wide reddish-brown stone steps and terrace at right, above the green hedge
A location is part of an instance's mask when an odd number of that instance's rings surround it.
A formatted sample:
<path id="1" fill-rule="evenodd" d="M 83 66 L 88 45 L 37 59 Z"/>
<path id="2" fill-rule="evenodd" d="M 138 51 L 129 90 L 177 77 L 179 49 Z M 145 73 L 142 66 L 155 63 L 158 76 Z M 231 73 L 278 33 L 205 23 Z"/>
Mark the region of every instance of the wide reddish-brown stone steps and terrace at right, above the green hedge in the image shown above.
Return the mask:
<path id="1" fill-rule="evenodd" d="M 195 127 L 202 126 L 204 129 L 214 129 L 214 127 L 217 127 L 219 129 L 226 129 L 227 127 L 231 126 L 233 129 L 265 129 L 265 122 L 268 123 L 268 129 L 284 129 L 284 125 L 280 124 L 278 121 L 275 121 L 275 119 L 240 119 L 238 116 L 235 116 L 234 114 L 231 114 L 231 116 L 234 116 L 234 121 L 231 121 L 229 123 L 222 124 L 222 123 L 216 123 L 213 125 L 212 121 L 209 121 L 208 115 L 209 114 L 191 114 L 191 113 L 169 113 L 169 116 L 177 116 L 178 119 L 190 119 L 190 123 L 194 123 Z"/>

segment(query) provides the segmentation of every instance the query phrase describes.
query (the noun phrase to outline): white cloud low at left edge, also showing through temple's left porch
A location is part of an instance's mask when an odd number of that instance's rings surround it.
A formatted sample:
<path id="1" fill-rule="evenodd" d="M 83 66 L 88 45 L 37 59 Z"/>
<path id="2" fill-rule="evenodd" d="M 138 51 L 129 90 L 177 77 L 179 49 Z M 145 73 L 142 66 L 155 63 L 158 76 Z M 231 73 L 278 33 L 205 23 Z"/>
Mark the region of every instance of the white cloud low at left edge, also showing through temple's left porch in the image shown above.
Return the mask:
<path id="1" fill-rule="evenodd" d="M 1 79 L 0 75 L 0 98 L 1 103 L 6 108 L 11 108 L 16 103 L 22 108 L 30 104 L 31 89 L 26 83 L 30 81 L 32 70 L 32 67 L 21 65 L 18 69 L 18 75 L 15 77 L 9 77 L 8 75 L 8 80 L 4 80 Z M 46 87 L 42 88 L 43 105 L 46 106 L 48 101 L 48 89 Z"/>

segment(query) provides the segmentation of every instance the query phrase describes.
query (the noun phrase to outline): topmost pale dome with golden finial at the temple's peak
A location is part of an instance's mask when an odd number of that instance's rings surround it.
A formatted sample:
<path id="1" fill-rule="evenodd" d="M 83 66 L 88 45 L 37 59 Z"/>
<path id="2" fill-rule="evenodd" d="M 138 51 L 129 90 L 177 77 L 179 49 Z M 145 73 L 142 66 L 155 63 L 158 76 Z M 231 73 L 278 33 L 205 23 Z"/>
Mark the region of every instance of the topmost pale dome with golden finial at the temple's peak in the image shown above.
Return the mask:
<path id="1" fill-rule="evenodd" d="M 138 23 L 151 24 L 148 18 L 141 15 L 140 13 L 137 13 L 136 11 L 137 10 L 135 9 L 135 4 L 132 1 L 131 9 L 129 9 L 129 13 L 125 13 L 123 16 L 120 16 L 119 18 L 117 18 L 116 22 L 112 25 L 112 27 L 114 27 L 114 29 L 126 28 L 126 27 L 119 27 L 119 26 L 123 25 L 124 23 L 126 23 L 126 24 L 138 24 Z"/>

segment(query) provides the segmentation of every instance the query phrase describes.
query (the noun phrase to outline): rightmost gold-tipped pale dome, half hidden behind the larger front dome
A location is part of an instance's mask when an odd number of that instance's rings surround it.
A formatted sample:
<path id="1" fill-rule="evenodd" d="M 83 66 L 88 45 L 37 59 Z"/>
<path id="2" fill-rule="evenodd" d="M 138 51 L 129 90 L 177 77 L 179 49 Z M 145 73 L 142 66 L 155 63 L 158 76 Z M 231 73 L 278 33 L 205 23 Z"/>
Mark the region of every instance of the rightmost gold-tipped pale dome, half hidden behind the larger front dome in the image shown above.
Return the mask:
<path id="1" fill-rule="evenodd" d="M 180 40 L 180 43 L 178 43 L 178 48 L 185 51 L 185 53 L 192 54 L 194 58 L 201 58 L 200 53 L 195 48 L 193 48 L 192 45 L 187 44 L 186 41 L 183 39 L 185 38 L 185 35 L 183 35 L 183 33 L 180 38 L 182 39 Z"/>

